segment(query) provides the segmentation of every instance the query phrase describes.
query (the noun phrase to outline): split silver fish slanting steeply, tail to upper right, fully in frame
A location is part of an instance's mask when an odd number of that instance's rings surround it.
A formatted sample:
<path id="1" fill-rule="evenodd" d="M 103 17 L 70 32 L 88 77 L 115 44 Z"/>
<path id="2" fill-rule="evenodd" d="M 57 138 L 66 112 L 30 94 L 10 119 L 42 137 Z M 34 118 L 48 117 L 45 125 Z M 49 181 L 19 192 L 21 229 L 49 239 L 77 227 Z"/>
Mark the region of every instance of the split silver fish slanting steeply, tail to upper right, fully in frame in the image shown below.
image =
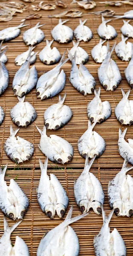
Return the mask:
<path id="1" fill-rule="evenodd" d="M 61 70 L 61 67 L 69 60 L 69 58 L 64 60 L 64 55 L 62 56 L 60 63 L 56 67 L 44 73 L 38 79 L 36 86 L 37 98 L 41 98 L 41 100 L 52 98 L 64 89 L 66 74 L 64 73 L 64 70 Z"/>

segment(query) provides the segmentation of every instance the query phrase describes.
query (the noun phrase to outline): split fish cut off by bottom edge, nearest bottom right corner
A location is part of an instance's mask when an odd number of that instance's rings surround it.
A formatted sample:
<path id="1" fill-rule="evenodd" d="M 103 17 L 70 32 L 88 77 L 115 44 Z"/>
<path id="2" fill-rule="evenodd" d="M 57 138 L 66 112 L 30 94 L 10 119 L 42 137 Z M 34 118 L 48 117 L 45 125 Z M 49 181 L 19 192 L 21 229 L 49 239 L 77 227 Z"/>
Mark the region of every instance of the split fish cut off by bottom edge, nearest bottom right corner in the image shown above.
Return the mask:
<path id="1" fill-rule="evenodd" d="M 93 240 L 95 256 L 126 256 L 126 246 L 120 233 L 116 228 L 110 233 L 109 223 L 113 215 L 113 210 L 106 216 L 102 208 L 102 215 L 103 226 Z"/>

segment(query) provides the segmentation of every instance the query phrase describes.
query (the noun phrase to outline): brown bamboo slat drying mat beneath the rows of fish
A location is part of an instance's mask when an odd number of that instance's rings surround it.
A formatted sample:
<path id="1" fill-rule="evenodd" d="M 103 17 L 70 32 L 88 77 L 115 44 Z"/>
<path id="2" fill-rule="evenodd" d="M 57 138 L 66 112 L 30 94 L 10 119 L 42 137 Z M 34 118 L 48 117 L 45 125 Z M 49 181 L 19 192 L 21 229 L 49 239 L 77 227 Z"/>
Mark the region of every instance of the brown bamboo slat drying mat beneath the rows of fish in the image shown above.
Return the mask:
<path id="1" fill-rule="evenodd" d="M 20 1 L 18 1 L 20 2 Z M 39 3 L 40 0 L 35 0 L 35 3 Z M 54 1 L 44 1 L 44 3 L 53 3 Z M 71 0 L 66 1 L 66 3 L 70 3 Z M 98 4 L 98 1 L 96 1 L 97 7 L 93 9 L 94 11 L 99 11 L 103 9 L 113 9 L 116 11 L 116 15 L 122 15 L 124 12 L 132 9 L 131 6 L 105 6 L 104 4 Z M 83 47 L 89 54 L 90 59 L 86 64 L 86 67 L 90 71 L 90 73 L 94 76 L 96 81 L 96 89 L 100 86 L 100 83 L 98 81 L 97 76 L 97 70 L 99 67 L 99 64 L 96 64 L 90 55 L 91 49 L 95 46 L 95 44 L 98 44 L 99 37 L 97 34 L 96 29 L 98 28 L 98 25 L 101 23 L 101 17 L 98 15 L 88 15 L 87 12 L 84 11 L 81 8 L 78 8 L 76 4 L 73 4 L 71 7 L 68 6 L 68 8 L 75 8 L 79 9 L 83 12 L 82 20 L 87 18 L 86 25 L 90 27 L 93 31 L 93 39 L 89 41 L 88 43 L 81 42 L 80 46 Z M 41 24 L 45 23 L 46 25 L 42 27 L 42 30 L 45 33 L 45 38 L 43 42 L 41 42 L 37 47 L 35 48 L 35 51 L 40 51 L 43 49 L 43 47 L 46 45 L 46 39 L 52 40 L 50 30 L 58 23 L 57 18 L 48 18 L 47 16 L 49 14 L 56 14 L 59 12 L 63 12 L 66 9 L 57 8 L 54 11 L 43 11 L 41 10 L 38 12 L 39 14 L 42 14 L 42 17 L 40 20 L 27 20 L 26 23 L 29 24 L 29 27 L 34 26 L 38 21 L 40 21 Z M 91 10 L 91 11 L 93 11 Z M 90 11 L 90 12 L 91 12 Z M 16 26 L 19 25 L 24 17 L 28 16 L 29 14 L 34 13 L 32 11 L 32 8 L 29 7 L 27 11 L 24 11 L 23 14 L 14 16 L 13 19 L 9 22 L 1 22 L 0 23 L 0 30 L 4 29 L 9 26 Z M 37 13 L 37 12 L 36 12 Z M 64 18 L 63 18 L 64 20 Z M 76 26 L 79 24 L 79 18 L 75 19 L 69 19 L 69 21 L 66 23 L 66 25 L 70 26 L 72 29 L 75 29 Z M 114 42 L 121 41 L 121 33 L 120 33 L 120 27 L 123 24 L 122 19 L 111 21 L 110 24 L 112 24 L 116 31 L 118 32 L 118 36 L 116 39 L 110 42 L 110 45 L 112 46 Z M 133 25 L 133 21 L 130 22 L 130 24 Z M 40 178 L 40 169 L 39 169 L 39 161 L 38 158 L 40 157 L 41 160 L 45 160 L 44 155 L 40 152 L 38 148 L 38 143 L 40 141 L 40 134 L 38 133 L 37 129 L 35 128 L 35 123 L 38 125 L 40 129 L 43 128 L 43 113 L 50 105 L 58 102 L 58 96 L 55 96 L 52 99 L 47 99 L 45 101 L 40 101 L 40 99 L 36 98 L 35 89 L 32 90 L 28 95 L 26 95 L 26 100 L 29 101 L 32 105 L 34 105 L 38 117 L 36 121 L 30 125 L 27 128 L 20 128 L 20 131 L 18 132 L 18 135 L 20 137 L 23 137 L 24 139 L 29 140 L 30 142 L 34 143 L 35 145 L 35 153 L 32 157 L 32 160 L 29 162 L 25 162 L 23 165 L 20 165 L 20 170 L 18 170 L 17 166 L 16 169 L 14 169 L 14 163 L 8 159 L 6 156 L 4 150 L 3 150 L 3 143 L 6 141 L 6 139 L 9 137 L 9 130 L 10 125 L 12 124 L 13 128 L 17 129 L 15 125 L 12 123 L 10 118 L 10 109 L 18 102 L 17 98 L 13 96 L 12 91 L 12 79 L 14 77 L 14 74 L 19 69 L 19 67 L 16 67 L 14 65 L 14 58 L 25 51 L 27 47 L 23 43 L 22 35 L 23 31 L 29 28 L 28 26 L 26 28 L 21 29 L 21 34 L 19 37 L 15 38 L 14 40 L 7 43 L 9 46 L 9 49 L 7 51 L 8 56 L 8 62 L 6 64 L 6 67 L 9 71 L 9 87 L 5 91 L 5 93 L 0 96 L 0 106 L 2 106 L 6 112 L 6 117 L 4 119 L 3 124 L 0 126 L 0 164 L 4 165 L 8 163 L 8 171 L 6 172 L 6 180 L 9 184 L 10 178 L 16 178 L 18 184 L 21 186 L 21 188 L 26 192 L 26 195 L 29 197 L 30 200 L 30 206 L 28 209 L 28 212 L 23 220 L 23 222 L 17 227 L 16 230 L 14 230 L 11 238 L 12 242 L 14 243 L 15 236 L 19 235 L 21 238 L 24 239 L 26 244 L 29 247 L 30 255 L 35 256 L 36 251 L 38 248 L 38 244 L 40 242 L 40 239 L 42 238 L 44 232 L 46 230 L 51 230 L 53 227 L 56 227 L 58 224 L 61 223 L 61 220 L 55 216 L 55 219 L 51 221 L 49 218 L 46 217 L 46 215 L 43 214 L 41 211 L 37 197 L 36 197 L 36 187 L 39 183 Z M 129 39 L 129 41 L 133 42 L 132 39 Z M 61 54 L 63 54 L 64 49 L 68 47 L 70 49 L 72 47 L 72 42 L 69 44 L 58 44 L 56 42 L 53 43 L 52 47 L 56 46 L 60 50 Z M 101 87 L 101 99 L 102 101 L 108 100 L 111 104 L 112 108 L 112 115 L 109 119 L 106 120 L 106 122 L 102 123 L 101 125 L 95 125 L 95 131 L 97 131 L 106 141 L 106 150 L 104 154 L 98 159 L 95 160 L 93 163 L 93 166 L 91 168 L 91 172 L 93 172 L 96 177 L 99 178 L 99 180 L 102 183 L 104 193 L 105 193 L 105 202 L 104 202 L 104 209 L 107 213 L 110 212 L 110 207 L 108 205 L 107 201 L 107 184 L 110 179 L 112 179 L 121 169 L 123 159 L 120 157 L 118 153 L 118 132 L 120 123 L 116 120 L 114 115 L 114 108 L 116 104 L 121 100 L 121 87 L 125 91 L 129 90 L 129 85 L 127 84 L 127 81 L 124 77 L 124 69 L 127 67 L 127 62 L 120 61 L 116 54 L 113 52 L 113 58 L 116 60 L 116 63 L 119 66 L 121 75 L 122 75 L 122 81 L 119 87 L 116 89 L 115 92 L 106 92 L 103 87 Z M 38 71 L 38 77 L 40 77 L 44 71 L 49 71 L 53 68 L 53 66 L 46 66 L 42 64 L 37 58 L 37 61 L 35 63 L 37 71 Z M 55 66 L 54 66 L 55 67 Z M 54 163 L 50 163 L 49 161 L 49 167 L 48 167 L 48 174 L 50 172 L 54 173 L 61 184 L 66 188 L 67 194 L 69 196 L 69 206 L 74 204 L 74 210 L 73 210 L 73 216 L 80 214 L 81 212 L 78 210 L 78 207 L 75 204 L 74 195 L 73 195 L 73 183 L 76 178 L 81 174 L 83 167 L 84 167 L 84 159 L 78 154 L 77 149 L 77 141 L 78 137 L 81 136 L 84 131 L 87 130 L 87 103 L 93 99 L 93 95 L 87 95 L 84 97 L 80 93 L 75 90 L 72 85 L 69 82 L 69 73 L 71 69 L 71 63 L 68 61 L 64 65 L 64 71 L 66 73 L 66 85 L 64 90 L 61 92 L 61 96 L 64 95 L 64 93 L 67 93 L 67 98 L 65 100 L 65 104 L 69 105 L 69 107 L 72 109 L 73 117 L 70 120 L 70 122 L 65 125 L 64 128 L 61 128 L 58 131 L 47 131 L 47 134 L 57 134 L 63 138 L 65 138 L 69 143 L 72 144 L 74 147 L 74 157 L 71 163 L 69 163 L 67 166 L 55 166 Z M 133 98 L 133 91 L 130 92 L 129 99 Z M 128 127 L 127 130 L 127 138 L 133 137 L 133 126 Z M 129 172 L 130 175 L 133 175 L 133 172 Z M 9 220 L 9 224 L 13 224 L 13 221 Z M 80 255 L 94 255 L 93 250 L 93 237 L 98 234 L 101 226 L 102 226 L 102 217 L 94 214 L 93 211 L 91 211 L 90 215 L 88 215 L 86 218 L 83 218 L 82 220 L 75 222 L 71 225 L 75 232 L 78 235 L 79 243 L 80 243 Z M 113 230 L 114 227 L 118 229 L 120 234 L 122 235 L 126 247 L 127 247 L 127 256 L 133 255 L 133 217 L 132 218 L 124 218 L 119 217 L 117 218 L 115 215 L 113 215 L 112 220 L 110 221 L 110 227 L 111 230 Z M 3 214 L 0 212 L 0 237 L 3 234 Z"/>

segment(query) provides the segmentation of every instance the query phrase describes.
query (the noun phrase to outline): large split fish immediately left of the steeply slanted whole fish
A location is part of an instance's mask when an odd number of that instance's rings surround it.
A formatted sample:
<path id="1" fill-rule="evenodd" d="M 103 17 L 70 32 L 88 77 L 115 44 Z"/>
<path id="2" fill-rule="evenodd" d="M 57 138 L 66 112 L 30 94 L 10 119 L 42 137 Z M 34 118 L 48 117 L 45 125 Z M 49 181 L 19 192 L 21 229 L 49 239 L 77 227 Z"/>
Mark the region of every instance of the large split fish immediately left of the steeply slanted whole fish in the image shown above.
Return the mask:
<path id="1" fill-rule="evenodd" d="M 35 65 L 29 69 L 32 47 L 30 49 L 29 55 L 23 65 L 17 70 L 13 82 L 13 92 L 14 95 L 22 98 L 25 94 L 29 93 L 36 85 L 38 81 L 38 73 Z"/>

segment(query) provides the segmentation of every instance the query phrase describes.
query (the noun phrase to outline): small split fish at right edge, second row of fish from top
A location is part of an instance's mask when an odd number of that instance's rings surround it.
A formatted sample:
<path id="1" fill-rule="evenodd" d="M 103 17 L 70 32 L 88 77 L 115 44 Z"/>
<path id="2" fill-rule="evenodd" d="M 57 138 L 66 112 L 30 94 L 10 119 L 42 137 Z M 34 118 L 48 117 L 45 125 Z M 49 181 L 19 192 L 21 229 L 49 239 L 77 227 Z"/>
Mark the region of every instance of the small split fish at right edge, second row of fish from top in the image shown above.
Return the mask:
<path id="1" fill-rule="evenodd" d="M 115 47 L 116 55 L 121 61 L 130 61 L 132 58 L 132 43 L 127 42 L 126 44 L 127 39 L 121 34 L 121 42 Z"/>

